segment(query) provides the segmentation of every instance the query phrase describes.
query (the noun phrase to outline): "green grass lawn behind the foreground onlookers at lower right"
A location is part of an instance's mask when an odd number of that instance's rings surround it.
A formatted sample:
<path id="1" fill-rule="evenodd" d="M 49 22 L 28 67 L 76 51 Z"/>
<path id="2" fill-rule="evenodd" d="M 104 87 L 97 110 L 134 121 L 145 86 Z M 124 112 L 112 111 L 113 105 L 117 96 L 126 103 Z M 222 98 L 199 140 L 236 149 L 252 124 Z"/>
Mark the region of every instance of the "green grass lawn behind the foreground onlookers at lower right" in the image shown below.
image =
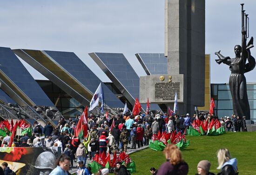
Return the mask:
<path id="1" fill-rule="evenodd" d="M 220 136 L 187 136 L 190 146 L 182 150 L 184 160 L 189 164 L 189 175 L 197 173 L 196 166 L 201 160 L 211 162 L 210 171 L 217 174 L 216 152 L 227 148 L 238 162 L 239 175 L 256 175 L 256 132 L 227 133 Z M 133 175 L 150 175 L 149 169 L 158 169 L 165 162 L 162 151 L 143 149 L 130 155 L 136 164 Z"/>

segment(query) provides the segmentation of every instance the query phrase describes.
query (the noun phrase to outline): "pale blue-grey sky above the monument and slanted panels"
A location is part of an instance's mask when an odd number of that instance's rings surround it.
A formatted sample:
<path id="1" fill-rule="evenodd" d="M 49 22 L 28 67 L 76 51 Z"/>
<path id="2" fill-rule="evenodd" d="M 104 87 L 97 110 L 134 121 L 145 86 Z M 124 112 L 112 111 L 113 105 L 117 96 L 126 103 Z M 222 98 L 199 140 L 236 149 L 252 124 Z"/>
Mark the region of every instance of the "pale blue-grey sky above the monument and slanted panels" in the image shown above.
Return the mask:
<path id="1" fill-rule="evenodd" d="M 255 0 L 206 0 L 205 53 L 210 54 L 211 83 L 227 83 L 229 66 L 214 52 L 234 58 L 241 45 L 241 6 L 249 14 L 249 36 L 256 36 Z M 135 53 L 164 52 L 164 0 L 12 0 L 0 6 L 0 46 L 74 52 L 102 81 L 111 82 L 88 55 L 123 53 L 145 76 Z M 255 56 L 256 48 L 251 49 Z M 21 62 L 35 79 L 47 79 Z M 255 70 L 245 74 L 256 82 Z"/>

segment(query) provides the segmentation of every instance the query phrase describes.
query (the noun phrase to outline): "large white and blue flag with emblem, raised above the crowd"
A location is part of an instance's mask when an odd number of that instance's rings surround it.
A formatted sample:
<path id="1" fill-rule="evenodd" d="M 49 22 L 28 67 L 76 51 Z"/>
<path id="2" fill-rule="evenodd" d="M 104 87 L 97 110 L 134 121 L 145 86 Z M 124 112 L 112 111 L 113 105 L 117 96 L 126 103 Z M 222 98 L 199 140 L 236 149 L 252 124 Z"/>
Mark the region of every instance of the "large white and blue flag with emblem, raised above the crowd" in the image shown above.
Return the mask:
<path id="1" fill-rule="evenodd" d="M 101 111 L 103 112 L 103 106 L 104 106 L 104 94 L 103 94 L 103 87 L 100 83 L 97 90 L 94 93 L 94 96 L 90 102 L 90 110 L 93 110 L 96 106 L 99 105 L 99 100 L 101 100 Z"/>

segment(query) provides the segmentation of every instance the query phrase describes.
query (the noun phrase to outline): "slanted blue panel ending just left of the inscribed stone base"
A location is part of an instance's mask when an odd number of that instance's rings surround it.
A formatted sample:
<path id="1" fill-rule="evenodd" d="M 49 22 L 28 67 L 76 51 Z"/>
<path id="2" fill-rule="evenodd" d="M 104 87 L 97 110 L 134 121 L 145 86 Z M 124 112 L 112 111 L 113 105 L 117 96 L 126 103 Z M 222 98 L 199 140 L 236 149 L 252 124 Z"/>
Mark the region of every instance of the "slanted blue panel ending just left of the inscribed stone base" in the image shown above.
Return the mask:
<path id="1" fill-rule="evenodd" d="M 134 71 L 133 67 L 129 64 L 128 60 L 122 53 L 99 53 L 95 52 L 101 62 L 107 67 L 107 69 L 114 75 L 107 75 L 109 79 L 115 84 L 119 81 L 126 91 L 131 94 L 135 99 L 140 99 L 140 78 Z M 102 69 L 102 67 L 101 67 Z M 141 105 L 143 109 L 146 109 L 146 105 Z M 151 109 L 160 109 L 157 104 L 150 104 Z"/>

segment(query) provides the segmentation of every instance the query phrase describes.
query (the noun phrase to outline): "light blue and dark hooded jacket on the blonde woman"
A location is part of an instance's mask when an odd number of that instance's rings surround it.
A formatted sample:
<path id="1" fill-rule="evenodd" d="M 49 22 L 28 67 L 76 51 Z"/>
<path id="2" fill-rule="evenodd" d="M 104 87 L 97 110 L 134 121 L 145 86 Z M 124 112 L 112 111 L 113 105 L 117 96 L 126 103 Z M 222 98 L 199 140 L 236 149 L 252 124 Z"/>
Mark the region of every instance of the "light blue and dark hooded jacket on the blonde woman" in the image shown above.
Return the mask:
<path id="1" fill-rule="evenodd" d="M 237 161 L 236 158 L 230 159 L 222 165 L 221 171 L 218 175 L 237 175 Z"/>

